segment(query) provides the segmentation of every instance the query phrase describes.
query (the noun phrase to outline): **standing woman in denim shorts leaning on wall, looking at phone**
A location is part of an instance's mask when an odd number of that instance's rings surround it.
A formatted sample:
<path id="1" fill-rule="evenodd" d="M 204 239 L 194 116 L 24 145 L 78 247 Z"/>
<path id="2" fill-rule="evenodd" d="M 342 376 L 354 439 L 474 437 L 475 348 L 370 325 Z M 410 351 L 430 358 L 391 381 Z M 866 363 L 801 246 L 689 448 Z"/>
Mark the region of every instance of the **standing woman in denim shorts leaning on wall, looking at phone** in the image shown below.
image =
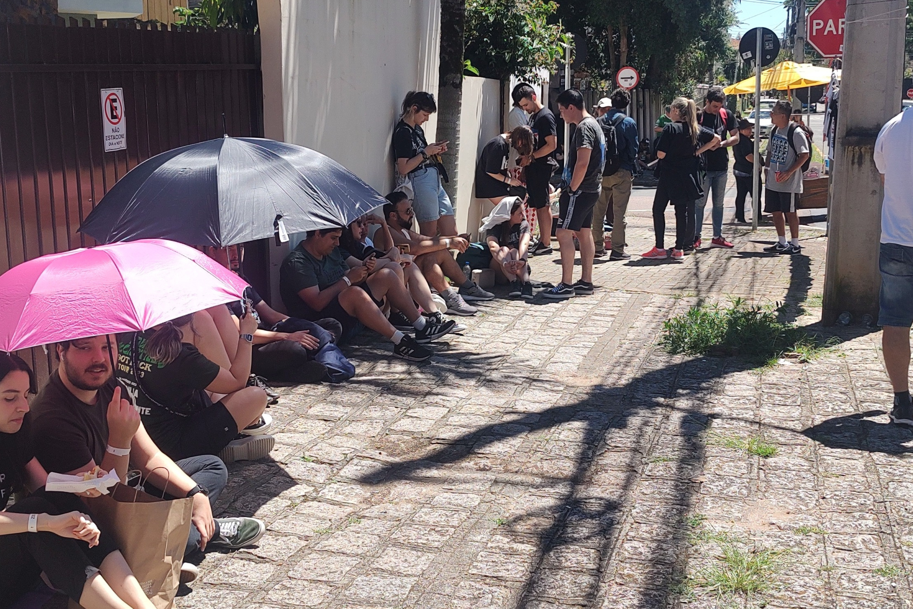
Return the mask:
<path id="1" fill-rule="evenodd" d="M 440 153 L 448 142 L 428 143 L 422 125 L 437 111 L 435 96 L 409 91 L 403 100 L 403 114 L 394 129 L 396 182 L 412 183 L 413 207 L 422 235 L 456 235 L 456 218 L 450 197 L 441 184 Z"/>

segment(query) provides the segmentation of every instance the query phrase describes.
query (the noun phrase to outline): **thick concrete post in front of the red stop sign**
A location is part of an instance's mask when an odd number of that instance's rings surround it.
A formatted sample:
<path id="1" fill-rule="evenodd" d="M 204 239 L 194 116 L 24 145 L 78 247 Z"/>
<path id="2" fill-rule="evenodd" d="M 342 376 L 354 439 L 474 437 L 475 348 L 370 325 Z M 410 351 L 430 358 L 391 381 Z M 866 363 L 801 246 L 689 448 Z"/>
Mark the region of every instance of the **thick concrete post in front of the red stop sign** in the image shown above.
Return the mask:
<path id="1" fill-rule="evenodd" d="M 825 325 L 878 313 L 881 179 L 872 152 L 900 110 L 907 0 L 848 0 L 824 276 Z"/>

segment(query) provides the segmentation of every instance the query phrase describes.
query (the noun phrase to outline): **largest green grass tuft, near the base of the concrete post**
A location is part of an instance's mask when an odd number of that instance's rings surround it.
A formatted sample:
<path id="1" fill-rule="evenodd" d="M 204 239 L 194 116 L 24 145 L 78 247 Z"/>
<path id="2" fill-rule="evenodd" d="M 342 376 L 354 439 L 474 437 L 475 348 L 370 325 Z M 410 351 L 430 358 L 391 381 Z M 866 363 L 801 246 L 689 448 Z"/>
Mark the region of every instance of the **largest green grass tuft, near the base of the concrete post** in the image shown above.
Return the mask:
<path id="1" fill-rule="evenodd" d="M 839 342 L 782 323 L 777 320 L 778 310 L 771 305 L 749 305 L 739 298 L 731 299 L 729 307 L 691 307 L 663 323 L 659 344 L 670 353 L 739 355 L 771 365 L 781 357 L 809 362 Z"/>

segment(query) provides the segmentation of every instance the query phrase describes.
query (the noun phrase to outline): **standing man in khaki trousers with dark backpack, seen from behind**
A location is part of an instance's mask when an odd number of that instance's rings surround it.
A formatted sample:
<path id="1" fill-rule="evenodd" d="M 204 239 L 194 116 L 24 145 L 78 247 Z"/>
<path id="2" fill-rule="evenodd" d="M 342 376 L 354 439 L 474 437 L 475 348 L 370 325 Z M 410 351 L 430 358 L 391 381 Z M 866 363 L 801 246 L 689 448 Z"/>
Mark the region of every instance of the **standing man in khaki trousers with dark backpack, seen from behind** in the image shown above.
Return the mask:
<path id="1" fill-rule="evenodd" d="M 605 169 L 603 170 L 603 193 L 593 208 L 593 243 L 596 246 L 595 256 L 605 256 L 605 236 L 603 223 L 612 202 L 612 254 L 610 260 L 626 260 L 630 254 L 624 253 L 624 227 L 627 221 L 628 200 L 631 198 L 631 186 L 634 184 L 635 163 L 637 158 L 637 123 L 624 114 L 631 104 L 631 93 L 627 89 L 615 89 L 608 99 L 599 100 L 597 107 L 602 110 L 612 104 L 599 117 L 599 126 L 605 136 Z"/>

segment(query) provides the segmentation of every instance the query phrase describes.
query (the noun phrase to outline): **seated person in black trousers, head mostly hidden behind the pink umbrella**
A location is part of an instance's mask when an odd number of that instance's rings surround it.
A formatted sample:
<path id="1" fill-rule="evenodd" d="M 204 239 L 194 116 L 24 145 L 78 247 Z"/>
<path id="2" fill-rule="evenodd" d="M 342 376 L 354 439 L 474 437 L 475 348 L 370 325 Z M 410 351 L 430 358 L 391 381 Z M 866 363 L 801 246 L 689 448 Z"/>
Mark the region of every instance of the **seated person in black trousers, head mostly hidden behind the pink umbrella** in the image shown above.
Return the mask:
<path id="1" fill-rule="evenodd" d="M 208 247 L 206 255 L 241 276 L 243 246 Z M 355 367 L 336 346 L 342 336 L 339 321 L 331 318 L 309 321 L 283 315 L 250 286 L 244 290 L 244 296 L 253 304 L 252 314 L 257 318 L 251 353 L 252 383 L 267 392 L 269 404 L 276 404 L 278 394 L 264 379 L 278 383 L 342 383 L 355 375 Z M 236 300 L 227 307 L 240 331 L 243 303 Z"/>

